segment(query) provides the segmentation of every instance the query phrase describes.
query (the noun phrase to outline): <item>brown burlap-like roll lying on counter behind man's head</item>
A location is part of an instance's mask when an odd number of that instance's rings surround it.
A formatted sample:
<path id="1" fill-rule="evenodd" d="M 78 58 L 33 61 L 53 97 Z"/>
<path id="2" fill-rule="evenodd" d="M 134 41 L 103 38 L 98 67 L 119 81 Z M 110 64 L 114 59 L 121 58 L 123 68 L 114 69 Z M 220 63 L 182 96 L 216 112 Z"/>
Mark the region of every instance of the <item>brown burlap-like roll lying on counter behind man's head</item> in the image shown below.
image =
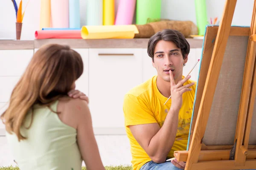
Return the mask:
<path id="1" fill-rule="evenodd" d="M 163 29 L 173 29 L 180 31 L 184 37 L 198 34 L 198 28 L 192 21 L 165 20 L 136 26 L 140 33 L 136 34 L 134 38 L 150 38 L 152 35 L 158 31 L 162 31 Z"/>

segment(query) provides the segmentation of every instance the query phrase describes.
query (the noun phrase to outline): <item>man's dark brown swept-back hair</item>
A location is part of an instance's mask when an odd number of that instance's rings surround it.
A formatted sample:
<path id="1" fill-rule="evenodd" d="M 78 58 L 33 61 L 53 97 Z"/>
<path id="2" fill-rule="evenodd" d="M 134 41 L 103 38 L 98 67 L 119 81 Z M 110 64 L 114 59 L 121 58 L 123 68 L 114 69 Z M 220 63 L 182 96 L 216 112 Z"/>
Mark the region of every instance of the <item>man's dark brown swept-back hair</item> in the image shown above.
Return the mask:
<path id="1" fill-rule="evenodd" d="M 164 29 L 163 31 L 158 31 L 148 41 L 148 55 L 152 58 L 154 62 L 154 48 L 157 42 L 160 40 L 174 42 L 182 52 L 182 57 L 185 59 L 186 54 L 189 54 L 190 45 L 186 38 L 179 31 L 172 29 Z"/>

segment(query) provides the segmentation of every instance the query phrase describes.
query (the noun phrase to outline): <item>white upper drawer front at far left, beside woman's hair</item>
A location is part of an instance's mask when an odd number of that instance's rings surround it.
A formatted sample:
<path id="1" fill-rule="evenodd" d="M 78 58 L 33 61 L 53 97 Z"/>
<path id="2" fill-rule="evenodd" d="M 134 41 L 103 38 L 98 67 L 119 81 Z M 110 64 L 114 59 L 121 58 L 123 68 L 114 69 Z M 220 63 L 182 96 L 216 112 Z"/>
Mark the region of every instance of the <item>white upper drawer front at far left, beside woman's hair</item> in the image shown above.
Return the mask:
<path id="1" fill-rule="evenodd" d="M 32 50 L 0 50 L 0 77 L 21 76 L 29 64 Z"/>

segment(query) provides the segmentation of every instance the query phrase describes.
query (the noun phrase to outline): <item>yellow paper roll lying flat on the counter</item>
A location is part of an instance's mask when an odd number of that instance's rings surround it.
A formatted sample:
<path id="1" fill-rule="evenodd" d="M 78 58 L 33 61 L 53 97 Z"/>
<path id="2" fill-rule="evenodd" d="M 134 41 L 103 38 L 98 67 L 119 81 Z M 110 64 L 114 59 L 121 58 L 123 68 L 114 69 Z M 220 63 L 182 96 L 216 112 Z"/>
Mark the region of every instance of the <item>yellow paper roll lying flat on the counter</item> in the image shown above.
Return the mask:
<path id="1" fill-rule="evenodd" d="M 139 31 L 135 25 L 120 26 L 82 26 L 83 39 L 132 39 Z"/>

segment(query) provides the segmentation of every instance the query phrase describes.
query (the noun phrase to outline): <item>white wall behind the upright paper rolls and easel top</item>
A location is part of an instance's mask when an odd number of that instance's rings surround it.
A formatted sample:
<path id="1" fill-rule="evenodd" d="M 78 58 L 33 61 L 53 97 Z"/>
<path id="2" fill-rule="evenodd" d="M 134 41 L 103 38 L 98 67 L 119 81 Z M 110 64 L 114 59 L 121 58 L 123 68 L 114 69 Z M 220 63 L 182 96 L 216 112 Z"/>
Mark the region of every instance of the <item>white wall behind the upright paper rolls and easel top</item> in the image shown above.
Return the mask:
<path id="1" fill-rule="evenodd" d="M 16 0 L 17 3 L 20 0 Z M 225 0 L 206 0 L 207 17 L 221 18 Z M 23 0 L 25 7 L 28 0 Z M 86 2 L 80 0 L 81 25 L 86 25 Z M 186 2 L 186 3 L 184 3 Z M 191 20 L 196 24 L 194 0 L 162 0 L 161 18 L 172 20 Z M 119 0 L 116 0 L 117 10 Z M 40 25 L 41 0 L 30 0 L 23 18 L 21 40 L 33 40 Z M 233 25 L 250 26 L 253 0 L 237 0 Z M 135 17 L 134 17 L 135 18 Z M 12 0 L 0 0 L 0 39 L 15 39 L 15 10 Z"/>

